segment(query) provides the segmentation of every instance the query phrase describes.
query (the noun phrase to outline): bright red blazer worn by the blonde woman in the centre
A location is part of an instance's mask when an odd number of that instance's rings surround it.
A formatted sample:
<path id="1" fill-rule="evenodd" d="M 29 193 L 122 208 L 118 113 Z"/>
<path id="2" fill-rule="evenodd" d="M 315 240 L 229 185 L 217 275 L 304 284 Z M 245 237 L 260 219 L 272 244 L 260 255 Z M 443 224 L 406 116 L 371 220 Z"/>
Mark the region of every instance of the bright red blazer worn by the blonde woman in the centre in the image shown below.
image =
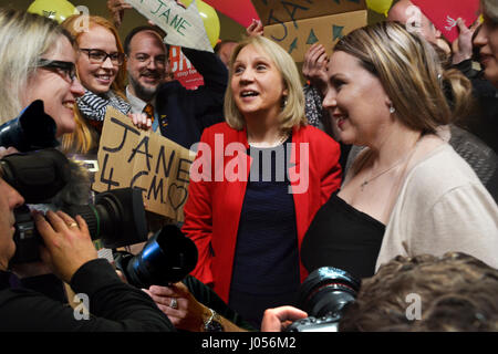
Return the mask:
<path id="1" fill-rule="evenodd" d="M 225 150 L 229 143 L 239 143 L 240 152 Z M 302 188 L 305 184 L 300 185 L 289 175 L 292 189 L 304 190 L 293 194 L 298 244 L 301 249 L 302 239 L 315 212 L 340 187 L 340 147 L 329 135 L 312 126 L 293 128 L 292 143 L 295 145 L 291 153 L 291 165 L 295 163 L 295 169 L 290 167 L 289 174 L 292 170 L 299 174 L 300 168 L 307 167 L 307 162 L 309 165 L 308 188 Z M 309 158 L 300 156 L 301 146 L 308 146 Z M 214 287 L 215 292 L 227 303 L 240 211 L 251 163 L 251 157 L 247 155 L 248 148 L 246 129 L 236 131 L 226 123 L 206 128 L 190 168 L 188 199 L 184 208 L 185 223 L 181 230 L 196 243 L 199 252 L 197 267 L 191 274 Z M 305 150 L 302 152 L 305 154 Z M 234 167 L 237 162 L 241 168 Z M 227 170 L 239 174 L 239 178 L 230 178 L 229 174 L 224 174 Z M 240 178 L 243 176 L 246 178 Z M 301 281 L 308 275 L 302 263 L 300 274 Z"/>

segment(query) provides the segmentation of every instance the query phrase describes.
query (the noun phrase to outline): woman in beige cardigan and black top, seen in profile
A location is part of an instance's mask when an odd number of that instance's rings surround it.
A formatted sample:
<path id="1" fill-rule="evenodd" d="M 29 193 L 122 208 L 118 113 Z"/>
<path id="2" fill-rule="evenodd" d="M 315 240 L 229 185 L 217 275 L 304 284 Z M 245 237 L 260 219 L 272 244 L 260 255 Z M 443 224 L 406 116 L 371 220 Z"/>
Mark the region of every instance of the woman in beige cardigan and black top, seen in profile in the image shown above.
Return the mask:
<path id="1" fill-rule="evenodd" d="M 366 148 L 304 237 L 309 272 L 333 266 L 365 278 L 398 254 L 447 251 L 498 267 L 497 205 L 437 135 L 467 104 L 469 83 L 436 55 L 397 23 L 359 29 L 335 46 L 323 106 L 342 142 Z"/>

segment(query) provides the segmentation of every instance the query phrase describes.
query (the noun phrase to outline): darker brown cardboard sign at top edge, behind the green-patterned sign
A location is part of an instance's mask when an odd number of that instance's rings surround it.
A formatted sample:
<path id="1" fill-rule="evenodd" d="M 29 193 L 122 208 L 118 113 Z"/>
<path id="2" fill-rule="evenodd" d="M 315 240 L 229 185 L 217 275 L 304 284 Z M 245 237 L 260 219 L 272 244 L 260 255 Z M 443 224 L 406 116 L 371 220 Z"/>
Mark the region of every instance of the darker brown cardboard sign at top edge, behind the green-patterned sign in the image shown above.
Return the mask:
<path id="1" fill-rule="evenodd" d="M 252 0 L 263 25 L 366 10 L 365 0 Z"/>

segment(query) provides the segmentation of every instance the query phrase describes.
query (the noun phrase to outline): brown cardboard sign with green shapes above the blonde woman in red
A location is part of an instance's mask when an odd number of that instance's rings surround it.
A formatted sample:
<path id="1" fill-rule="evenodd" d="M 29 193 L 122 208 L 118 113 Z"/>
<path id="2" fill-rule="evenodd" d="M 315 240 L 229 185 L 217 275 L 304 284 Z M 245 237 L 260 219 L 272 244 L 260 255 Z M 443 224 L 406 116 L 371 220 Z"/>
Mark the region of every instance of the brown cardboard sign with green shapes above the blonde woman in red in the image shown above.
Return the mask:
<path id="1" fill-rule="evenodd" d="M 366 10 L 352 11 L 267 25 L 264 37 L 279 43 L 299 63 L 311 44 L 323 44 L 330 55 L 342 37 L 366 23 Z"/>

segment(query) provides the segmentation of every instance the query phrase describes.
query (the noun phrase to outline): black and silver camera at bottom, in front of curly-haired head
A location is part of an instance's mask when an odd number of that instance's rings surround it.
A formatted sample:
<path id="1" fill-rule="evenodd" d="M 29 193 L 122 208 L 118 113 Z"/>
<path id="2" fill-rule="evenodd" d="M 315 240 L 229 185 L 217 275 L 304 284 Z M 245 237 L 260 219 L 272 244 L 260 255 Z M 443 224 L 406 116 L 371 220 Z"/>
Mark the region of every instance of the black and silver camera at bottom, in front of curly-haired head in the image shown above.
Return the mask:
<path id="1" fill-rule="evenodd" d="M 333 267 L 308 275 L 299 289 L 298 308 L 310 314 L 289 325 L 286 332 L 338 332 L 346 305 L 356 299 L 360 281 Z"/>

